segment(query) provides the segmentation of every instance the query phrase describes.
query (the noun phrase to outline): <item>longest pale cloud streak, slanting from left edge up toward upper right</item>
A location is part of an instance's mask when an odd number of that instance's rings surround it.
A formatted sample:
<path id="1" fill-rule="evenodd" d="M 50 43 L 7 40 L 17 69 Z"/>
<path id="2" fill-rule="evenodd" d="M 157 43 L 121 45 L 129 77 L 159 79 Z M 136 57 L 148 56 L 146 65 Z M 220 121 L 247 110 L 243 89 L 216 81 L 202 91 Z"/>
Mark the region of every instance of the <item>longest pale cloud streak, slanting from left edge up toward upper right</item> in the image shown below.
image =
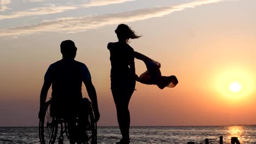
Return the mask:
<path id="1" fill-rule="evenodd" d="M 66 17 L 56 19 L 54 21 L 44 21 L 36 25 L 0 29 L 0 36 L 18 36 L 42 32 L 82 32 L 101 26 L 116 25 L 120 22 L 126 23 L 146 20 L 152 17 L 161 17 L 171 14 L 174 11 L 181 11 L 186 8 L 194 8 L 202 4 L 218 3 L 220 1 L 229 0 L 200 0 L 179 5 L 168 5 L 162 7 L 139 9 L 135 11 L 127 11 L 118 14 L 91 15 L 85 17 Z"/>

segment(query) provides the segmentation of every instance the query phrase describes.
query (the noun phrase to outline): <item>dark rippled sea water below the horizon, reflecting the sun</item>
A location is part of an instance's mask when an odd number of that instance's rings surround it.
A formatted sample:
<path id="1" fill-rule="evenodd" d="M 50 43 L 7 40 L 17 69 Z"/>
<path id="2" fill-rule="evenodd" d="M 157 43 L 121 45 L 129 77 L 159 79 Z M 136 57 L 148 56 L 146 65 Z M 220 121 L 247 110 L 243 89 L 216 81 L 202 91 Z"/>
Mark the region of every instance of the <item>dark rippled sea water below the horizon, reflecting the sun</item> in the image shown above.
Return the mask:
<path id="1" fill-rule="evenodd" d="M 256 143 L 256 125 L 223 127 L 131 127 L 131 143 L 230 143 L 238 137 L 241 143 Z M 98 143 L 115 143 L 121 138 L 118 127 L 98 127 Z M 65 137 L 66 139 L 66 137 Z M 37 127 L 0 127 L 0 143 L 40 143 Z M 55 142 L 57 143 L 57 142 Z M 69 143 L 65 140 L 65 143 Z"/>

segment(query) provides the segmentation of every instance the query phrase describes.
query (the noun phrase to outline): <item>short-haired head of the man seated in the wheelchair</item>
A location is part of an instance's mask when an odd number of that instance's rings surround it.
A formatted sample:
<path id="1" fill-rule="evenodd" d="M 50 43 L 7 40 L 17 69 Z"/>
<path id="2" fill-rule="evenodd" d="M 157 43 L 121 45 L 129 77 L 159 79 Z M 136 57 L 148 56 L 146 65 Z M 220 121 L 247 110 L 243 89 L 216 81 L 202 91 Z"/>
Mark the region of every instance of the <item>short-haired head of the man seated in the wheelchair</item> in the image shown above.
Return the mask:
<path id="1" fill-rule="evenodd" d="M 61 53 L 63 58 L 75 58 L 77 55 L 77 47 L 72 40 L 64 40 L 61 42 Z"/>

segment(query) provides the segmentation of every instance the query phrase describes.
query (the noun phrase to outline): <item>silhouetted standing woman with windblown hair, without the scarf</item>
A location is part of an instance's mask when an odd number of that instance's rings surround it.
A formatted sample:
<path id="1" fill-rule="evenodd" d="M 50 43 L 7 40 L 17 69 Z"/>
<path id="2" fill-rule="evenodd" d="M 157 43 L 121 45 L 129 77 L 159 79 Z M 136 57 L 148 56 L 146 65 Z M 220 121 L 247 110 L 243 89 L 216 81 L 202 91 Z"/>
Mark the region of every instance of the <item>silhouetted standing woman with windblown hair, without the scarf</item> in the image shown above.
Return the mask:
<path id="1" fill-rule="evenodd" d="M 115 33 L 118 42 L 108 43 L 111 61 L 111 91 L 117 108 L 118 124 L 122 139 L 117 144 L 130 143 L 130 112 L 128 109 L 131 95 L 135 89 L 136 74 L 134 50 L 127 44 L 129 39 L 137 39 L 131 28 L 125 24 L 118 25 Z"/>

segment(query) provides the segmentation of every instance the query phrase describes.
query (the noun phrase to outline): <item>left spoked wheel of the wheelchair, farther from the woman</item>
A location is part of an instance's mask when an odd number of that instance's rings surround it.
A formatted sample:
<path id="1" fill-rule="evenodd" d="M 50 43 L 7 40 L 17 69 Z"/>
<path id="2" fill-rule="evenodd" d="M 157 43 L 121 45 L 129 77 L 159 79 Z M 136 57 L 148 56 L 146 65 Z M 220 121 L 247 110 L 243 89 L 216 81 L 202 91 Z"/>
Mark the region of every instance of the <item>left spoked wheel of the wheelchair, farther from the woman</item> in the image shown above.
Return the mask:
<path id="1" fill-rule="evenodd" d="M 50 109 L 51 100 L 47 101 L 44 106 L 44 118 L 39 121 L 39 139 L 42 144 L 53 144 L 57 136 L 58 123 Z"/>

